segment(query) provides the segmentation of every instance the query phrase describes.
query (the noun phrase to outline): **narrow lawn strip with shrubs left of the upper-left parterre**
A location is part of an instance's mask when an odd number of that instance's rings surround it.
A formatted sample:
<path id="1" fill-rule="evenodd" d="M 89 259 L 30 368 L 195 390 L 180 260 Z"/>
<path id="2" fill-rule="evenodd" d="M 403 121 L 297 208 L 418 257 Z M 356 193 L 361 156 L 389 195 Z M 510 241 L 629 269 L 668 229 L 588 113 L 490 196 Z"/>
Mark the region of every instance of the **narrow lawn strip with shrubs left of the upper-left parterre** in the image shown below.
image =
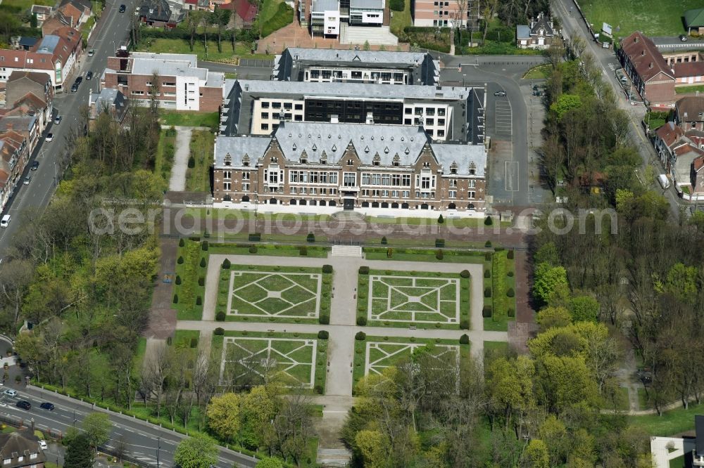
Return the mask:
<path id="1" fill-rule="evenodd" d="M 182 241 L 183 245 L 180 245 L 176 254 L 173 307 L 177 310 L 178 320 L 201 320 L 208 252 L 202 250 L 201 242 L 189 239 Z M 206 266 L 201 266 L 203 260 Z"/>

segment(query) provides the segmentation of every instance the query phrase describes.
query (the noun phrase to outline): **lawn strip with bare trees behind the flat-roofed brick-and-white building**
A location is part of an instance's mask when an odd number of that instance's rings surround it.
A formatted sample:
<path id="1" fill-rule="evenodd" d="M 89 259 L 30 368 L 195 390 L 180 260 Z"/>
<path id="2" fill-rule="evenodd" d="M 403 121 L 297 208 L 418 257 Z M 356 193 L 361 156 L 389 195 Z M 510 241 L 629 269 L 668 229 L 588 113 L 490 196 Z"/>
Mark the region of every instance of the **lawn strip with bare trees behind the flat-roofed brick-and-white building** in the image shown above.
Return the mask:
<path id="1" fill-rule="evenodd" d="M 199 28 L 200 31 L 200 28 Z M 198 56 L 198 60 L 208 60 L 210 62 L 232 62 L 237 57 L 249 56 L 249 44 L 241 42 L 235 43 L 234 51 L 230 41 L 222 41 L 222 52 L 218 52 L 218 38 L 213 34 L 215 40 L 208 39 L 208 51 L 203 45 L 203 41 L 196 40 L 193 44 L 193 51 L 189 41 L 186 39 L 156 39 L 144 38 L 139 41 L 137 51 L 140 52 L 156 52 L 156 53 L 194 53 Z"/>

